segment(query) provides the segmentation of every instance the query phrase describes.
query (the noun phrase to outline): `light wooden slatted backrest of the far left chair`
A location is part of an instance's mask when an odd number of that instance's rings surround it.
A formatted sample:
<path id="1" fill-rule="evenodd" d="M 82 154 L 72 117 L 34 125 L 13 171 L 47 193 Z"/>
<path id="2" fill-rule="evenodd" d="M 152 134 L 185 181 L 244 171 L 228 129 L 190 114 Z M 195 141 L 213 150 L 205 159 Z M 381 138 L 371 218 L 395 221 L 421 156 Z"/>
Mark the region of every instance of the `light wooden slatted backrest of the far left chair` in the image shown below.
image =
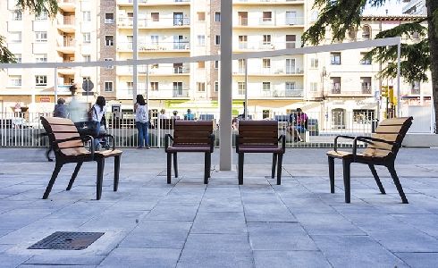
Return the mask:
<path id="1" fill-rule="evenodd" d="M 80 137 L 76 126 L 70 119 L 41 116 L 41 123 L 44 127 L 44 130 L 46 130 L 50 144 L 54 145 L 55 150 L 59 149 L 61 154 L 89 154 L 88 150 L 84 147 L 84 144 L 80 139 L 54 143 L 55 141 L 66 138 Z"/>

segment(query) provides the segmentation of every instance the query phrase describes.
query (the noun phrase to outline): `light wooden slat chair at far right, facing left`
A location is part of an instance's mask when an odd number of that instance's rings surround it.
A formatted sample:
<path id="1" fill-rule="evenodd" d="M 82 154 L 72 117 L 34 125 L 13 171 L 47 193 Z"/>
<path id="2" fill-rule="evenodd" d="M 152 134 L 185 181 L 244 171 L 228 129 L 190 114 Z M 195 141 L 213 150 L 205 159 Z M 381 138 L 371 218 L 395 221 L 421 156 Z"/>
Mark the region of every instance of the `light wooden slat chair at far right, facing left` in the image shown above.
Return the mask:
<path id="1" fill-rule="evenodd" d="M 394 161 L 401 147 L 401 142 L 412 124 L 412 117 L 399 117 L 383 120 L 375 129 L 372 137 L 337 136 L 334 138 L 333 151 L 327 152 L 329 163 L 330 191 L 334 193 L 334 158 L 342 160 L 343 180 L 345 188 L 345 202 L 350 203 L 350 163 L 366 163 L 373 173 L 375 182 L 382 194 L 385 194 L 382 182 L 375 171 L 375 165 L 386 166 L 392 180 L 399 191 L 403 203 L 408 203 L 399 177 L 395 172 Z M 338 138 L 353 139 L 352 152 L 338 151 Z M 358 153 L 358 141 L 366 142 L 367 147 L 362 153 Z"/>

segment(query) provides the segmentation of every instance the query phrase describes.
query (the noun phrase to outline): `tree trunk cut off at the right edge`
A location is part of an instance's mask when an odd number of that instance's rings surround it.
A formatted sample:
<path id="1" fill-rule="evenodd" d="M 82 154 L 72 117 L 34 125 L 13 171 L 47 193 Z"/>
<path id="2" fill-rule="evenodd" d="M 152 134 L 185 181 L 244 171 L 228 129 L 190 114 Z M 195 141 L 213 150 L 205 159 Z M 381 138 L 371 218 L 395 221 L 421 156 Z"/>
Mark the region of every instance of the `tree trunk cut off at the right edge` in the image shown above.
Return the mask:
<path id="1" fill-rule="evenodd" d="M 429 38 L 429 48 L 431 55 L 431 77 L 432 77 L 432 97 L 434 99 L 434 114 L 435 114 L 435 125 L 432 126 L 434 128 L 435 133 L 436 127 L 438 126 L 438 35 L 436 31 L 438 29 L 435 28 L 434 21 L 434 11 L 438 10 L 438 1 L 436 0 L 427 0 L 427 35 Z"/>

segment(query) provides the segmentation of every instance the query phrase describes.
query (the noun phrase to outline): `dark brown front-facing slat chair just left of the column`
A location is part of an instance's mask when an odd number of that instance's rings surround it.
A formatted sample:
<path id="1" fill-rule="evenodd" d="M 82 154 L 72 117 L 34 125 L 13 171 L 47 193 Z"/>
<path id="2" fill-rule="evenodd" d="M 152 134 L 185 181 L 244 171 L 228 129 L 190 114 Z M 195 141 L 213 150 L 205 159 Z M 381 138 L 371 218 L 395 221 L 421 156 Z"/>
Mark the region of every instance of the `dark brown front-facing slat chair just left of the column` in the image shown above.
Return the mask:
<path id="1" fill-rule="evenodd" d="M 171 145 L 172 140 L 172 145 Z M 173 135 L 167 133 L 164 151 L 167 153 L 167 183 L 171 183 L 172 155 L 175 178 L 178 178 L 178 152 L 205 153 L 204 183 L 208 183 L 211 170 L 211 154 L 215 147 L 213 121 L 174 121 Z"/>

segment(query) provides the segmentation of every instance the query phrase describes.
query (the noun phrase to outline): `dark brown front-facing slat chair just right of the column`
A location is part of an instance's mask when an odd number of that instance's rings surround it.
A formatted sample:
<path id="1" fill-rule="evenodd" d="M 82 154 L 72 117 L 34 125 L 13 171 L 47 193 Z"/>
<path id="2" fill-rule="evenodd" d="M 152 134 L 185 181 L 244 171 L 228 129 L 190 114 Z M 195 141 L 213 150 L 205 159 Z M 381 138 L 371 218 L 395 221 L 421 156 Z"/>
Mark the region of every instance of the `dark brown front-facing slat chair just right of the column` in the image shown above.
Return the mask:
<path id="1" fill-rule="evenodd" d="M 281 142 L 281 147 L 279 147 Z M 239 184 L 243 184 L 243 163 L 246 153 L 273 154 L 271 178 L 275 177 L 277 166 L 277 185 L 282 183 L 282 155 L 285 152 L 286 138 L 278 135 L 276 120 L 241 120 L 239 134 L 236 134 L 236 153 L 239 154 Z"/>

